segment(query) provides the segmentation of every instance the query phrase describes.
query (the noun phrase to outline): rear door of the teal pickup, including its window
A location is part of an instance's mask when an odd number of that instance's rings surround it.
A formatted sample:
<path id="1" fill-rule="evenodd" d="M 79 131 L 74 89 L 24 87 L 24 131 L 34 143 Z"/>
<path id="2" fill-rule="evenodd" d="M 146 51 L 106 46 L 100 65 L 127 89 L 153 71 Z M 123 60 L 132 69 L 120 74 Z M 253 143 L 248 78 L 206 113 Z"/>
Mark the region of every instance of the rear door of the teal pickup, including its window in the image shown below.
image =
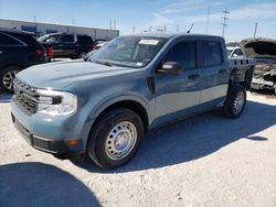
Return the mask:
<path id="1" fill-rule="evenodd" d="M 229 62 L 223 53 L 222 41 L 205 40 L 200 44 L 200 65 L 202 67 L 201 103 L 214 106 L 222 101 L 229 87 Z"/>

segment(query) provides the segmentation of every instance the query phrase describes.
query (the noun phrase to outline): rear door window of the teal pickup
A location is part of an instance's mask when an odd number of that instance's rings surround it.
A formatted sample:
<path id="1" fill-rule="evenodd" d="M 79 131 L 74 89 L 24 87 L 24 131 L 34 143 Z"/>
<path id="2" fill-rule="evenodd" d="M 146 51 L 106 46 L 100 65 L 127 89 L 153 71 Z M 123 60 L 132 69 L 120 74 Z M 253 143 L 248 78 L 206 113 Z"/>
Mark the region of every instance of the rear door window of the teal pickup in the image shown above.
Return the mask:
<path id="1" fill-rule="evenodd" d="M 223 62 L 220 42 L 202 42 L 202 62 L 203 66 L 215 66 Z"/>

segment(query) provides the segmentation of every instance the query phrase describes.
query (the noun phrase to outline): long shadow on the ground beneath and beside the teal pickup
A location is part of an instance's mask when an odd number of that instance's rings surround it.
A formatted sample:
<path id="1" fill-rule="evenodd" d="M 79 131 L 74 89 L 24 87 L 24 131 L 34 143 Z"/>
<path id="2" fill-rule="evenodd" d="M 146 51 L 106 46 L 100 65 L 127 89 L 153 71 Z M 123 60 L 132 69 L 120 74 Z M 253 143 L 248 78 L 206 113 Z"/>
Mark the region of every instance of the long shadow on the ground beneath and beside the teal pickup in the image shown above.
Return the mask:
<path id="1" fill-rule="evenodd" d="M 134 160 L 125 166 L 104 171 L 88 159 L 75 164 L 88 172 L 124 173 L 176 165 L 204 157 L 240 139 L 266 141 L 261 132 L 276 124 L 276 107 L 247 101 L 238 119 L 225 119 L 211 111 L 150 132 Z"/>

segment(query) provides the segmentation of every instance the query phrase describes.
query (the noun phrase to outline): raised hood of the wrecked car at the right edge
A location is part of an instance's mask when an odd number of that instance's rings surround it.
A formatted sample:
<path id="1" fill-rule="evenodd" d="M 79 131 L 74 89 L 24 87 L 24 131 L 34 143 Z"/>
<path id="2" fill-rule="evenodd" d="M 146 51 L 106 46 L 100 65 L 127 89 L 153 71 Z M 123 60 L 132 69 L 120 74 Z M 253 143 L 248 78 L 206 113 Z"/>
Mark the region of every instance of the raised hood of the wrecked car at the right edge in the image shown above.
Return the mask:
<path id="1" fill-rule="evenodd" d="M 240 45 L 246 57 L 276 58 L 276 40 L 246 39 Z"/>

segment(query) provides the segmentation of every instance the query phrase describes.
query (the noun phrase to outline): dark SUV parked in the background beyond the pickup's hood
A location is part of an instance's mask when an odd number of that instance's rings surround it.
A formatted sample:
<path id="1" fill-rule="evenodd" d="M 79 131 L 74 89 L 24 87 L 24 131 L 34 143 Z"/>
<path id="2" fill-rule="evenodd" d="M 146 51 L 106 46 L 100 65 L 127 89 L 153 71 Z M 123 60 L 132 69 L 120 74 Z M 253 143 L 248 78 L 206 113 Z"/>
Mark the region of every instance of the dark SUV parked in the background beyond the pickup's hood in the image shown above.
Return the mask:
<path id="1" fill-rule="evenodd" d="M 38 39 L 53 45 L 53 58 L 81 58 L 91 52 L 94 41 L 88 35 L 52 33 Z"/>

